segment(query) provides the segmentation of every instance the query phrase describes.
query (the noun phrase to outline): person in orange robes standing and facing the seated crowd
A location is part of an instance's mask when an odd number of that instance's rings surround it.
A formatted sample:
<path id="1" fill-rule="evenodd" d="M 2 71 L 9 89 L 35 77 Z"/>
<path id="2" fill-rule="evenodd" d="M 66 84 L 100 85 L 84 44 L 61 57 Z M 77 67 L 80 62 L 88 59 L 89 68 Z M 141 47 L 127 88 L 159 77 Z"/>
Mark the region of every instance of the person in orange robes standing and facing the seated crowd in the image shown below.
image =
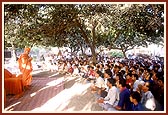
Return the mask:
<path id="1" fill-rule="evenodd" d="M 29 88 L 32 81 L 32 58 L 29 56 L 30 48 L 25 48 L 24 53 L 22 53 L 18 59 L 19 69 L 22 73 L 23 86 L 24 88 Z"/>

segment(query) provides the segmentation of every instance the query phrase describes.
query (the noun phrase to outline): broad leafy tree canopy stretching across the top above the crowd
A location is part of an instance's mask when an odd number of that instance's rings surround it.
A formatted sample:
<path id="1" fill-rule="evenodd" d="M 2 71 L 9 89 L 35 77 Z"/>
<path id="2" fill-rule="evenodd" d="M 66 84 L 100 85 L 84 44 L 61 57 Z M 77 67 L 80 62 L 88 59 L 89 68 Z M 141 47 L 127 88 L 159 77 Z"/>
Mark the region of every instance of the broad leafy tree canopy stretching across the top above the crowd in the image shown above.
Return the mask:
<path id="1" fill-rule="evenodd" d="M 126 52 L 163 43 L 164 4 L 4 4 L 4 39 L 15 47 L 104 45 Z"/>

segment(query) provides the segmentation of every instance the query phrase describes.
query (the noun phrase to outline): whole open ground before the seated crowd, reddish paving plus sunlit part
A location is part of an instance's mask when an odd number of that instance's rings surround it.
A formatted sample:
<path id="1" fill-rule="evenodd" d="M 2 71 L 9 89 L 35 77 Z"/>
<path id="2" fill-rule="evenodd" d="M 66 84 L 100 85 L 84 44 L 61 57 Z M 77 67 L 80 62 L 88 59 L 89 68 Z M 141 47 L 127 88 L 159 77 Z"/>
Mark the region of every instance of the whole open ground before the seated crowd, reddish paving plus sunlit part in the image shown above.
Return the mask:
<path id="1" fill-rule="evenodd" d="M 15 99 L 7 96 L 5 112 L 93 112 L 102 111 L 80 77 L 41 72 L 33 75 L 31 88 Z"/>

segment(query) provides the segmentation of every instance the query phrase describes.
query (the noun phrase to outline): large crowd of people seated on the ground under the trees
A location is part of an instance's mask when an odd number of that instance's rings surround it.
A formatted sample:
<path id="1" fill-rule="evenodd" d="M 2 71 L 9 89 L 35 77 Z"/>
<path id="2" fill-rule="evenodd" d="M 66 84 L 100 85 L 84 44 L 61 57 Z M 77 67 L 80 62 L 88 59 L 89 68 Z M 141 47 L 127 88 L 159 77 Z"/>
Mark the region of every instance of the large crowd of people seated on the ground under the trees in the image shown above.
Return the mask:
<path id="1" fill-rule="evenodd" d="M 61 61 L 61 72 L 81 76 L 104 111 L 163 111 L 164 64 L 150 59 Z M 63 69 L 64 68 L 64 69 Z"/>

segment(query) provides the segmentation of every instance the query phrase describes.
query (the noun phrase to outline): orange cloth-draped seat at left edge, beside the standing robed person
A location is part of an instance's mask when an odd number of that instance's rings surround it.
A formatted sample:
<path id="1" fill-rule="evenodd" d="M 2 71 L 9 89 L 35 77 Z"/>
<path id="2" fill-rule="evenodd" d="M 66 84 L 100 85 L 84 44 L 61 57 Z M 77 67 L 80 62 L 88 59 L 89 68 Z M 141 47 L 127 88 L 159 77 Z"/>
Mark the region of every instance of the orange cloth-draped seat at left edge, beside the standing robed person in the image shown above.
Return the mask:
<path id="1" fill-rule="evenodd" d="M 20 94 L 23 91 L 22 77 L 21 75 L 16 77 L 15 74 L 10 73 L 7 69 L 4 71 L 5 81 L 4 88 L 6 94 Z"/>

